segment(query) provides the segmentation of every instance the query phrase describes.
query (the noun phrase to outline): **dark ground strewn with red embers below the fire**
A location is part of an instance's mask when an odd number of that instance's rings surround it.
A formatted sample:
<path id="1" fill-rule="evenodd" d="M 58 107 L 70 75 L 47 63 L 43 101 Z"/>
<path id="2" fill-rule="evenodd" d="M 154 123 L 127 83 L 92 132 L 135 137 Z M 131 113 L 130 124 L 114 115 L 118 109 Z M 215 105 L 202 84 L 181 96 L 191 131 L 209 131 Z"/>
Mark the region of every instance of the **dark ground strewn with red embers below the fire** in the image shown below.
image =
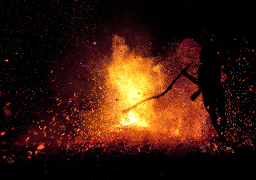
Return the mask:
<path id="1" fill-rule="evenodd" d="M 214 144 L 218 148 L 214 150 Z M 126 144 L 127 145 L 127 144 Z M 219 142 L 178 145 L 1 144 L 1 179 L 254 179 L 255 149 Z M 240 147 L 238 147 L 238 146 Z M 89 149 L 87 149 L 91 146 Z M 201 148 L 200 148 L 201 147 Z M 202 150 L 205 149 L 205 151 Z M 86 150 L 87 149 L 87 150 Z M 139 150 L 140 149 L 140 152 Z M 225 149 L 225 150 L 223 150 Z M 3 158 L 6 156 L 6 159 Z M 30 156 L 31 158 L 29 158 Z M 3 178 L 4 177 L 4 178 Z"/>

